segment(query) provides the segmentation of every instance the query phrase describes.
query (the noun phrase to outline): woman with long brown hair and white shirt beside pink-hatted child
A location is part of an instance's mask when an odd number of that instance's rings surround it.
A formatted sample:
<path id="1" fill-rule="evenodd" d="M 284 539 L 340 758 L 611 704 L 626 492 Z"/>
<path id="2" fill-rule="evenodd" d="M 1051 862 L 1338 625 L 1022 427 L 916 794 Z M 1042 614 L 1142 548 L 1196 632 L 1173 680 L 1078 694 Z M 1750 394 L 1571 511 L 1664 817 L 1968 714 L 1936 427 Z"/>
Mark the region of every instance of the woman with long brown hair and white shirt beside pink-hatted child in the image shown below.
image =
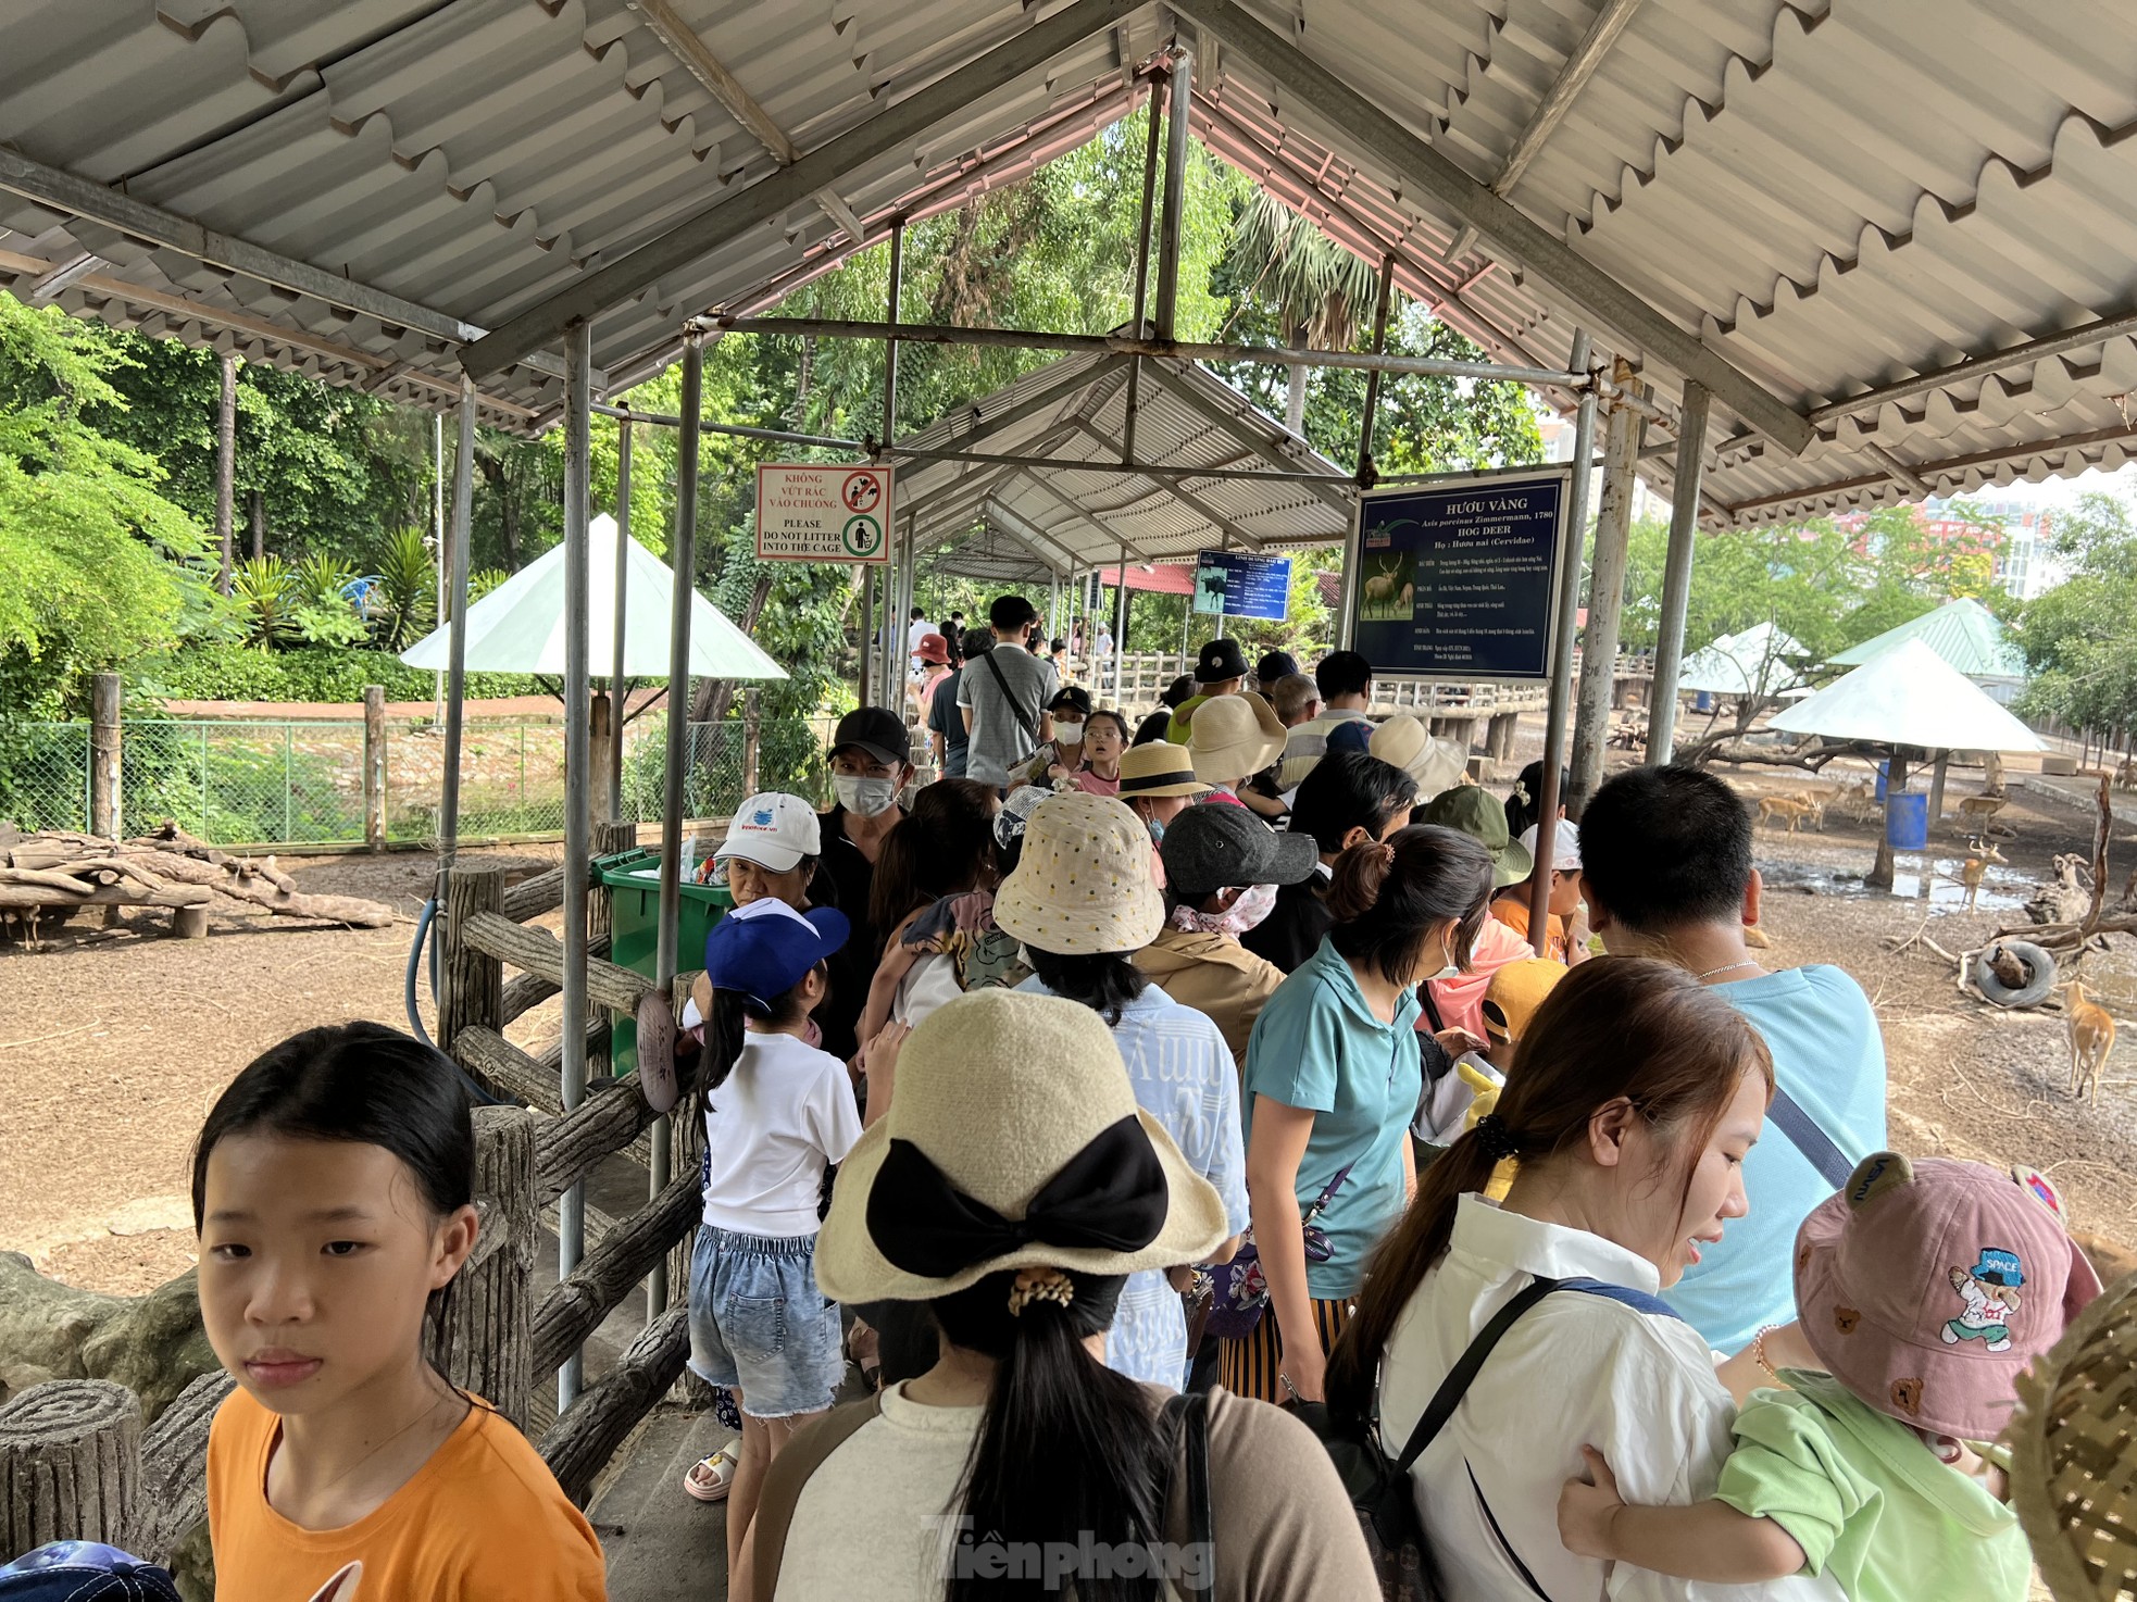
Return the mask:
<path id="1" fill-rule="evenodd" d="M 1609 1459 L 1620 1487 L 1639 1480 L 1626 1499 L 1714 1493 L 1735 1403 L 1705 1341 L 1656 1292 L 1744 1215 L 1742 1162 L 1772 1094 L 1765 1042 L 1729 1002 L 1669 963 L 1592 961 L 1537 1010 L 1498 1109 L 1423 1173 L 1329 1361 L 1329 1405 L 1376 1416 L 1393 1457 L 1464 1354 L 1487 1350 L 1410 1467 L 1449 1596 L 1710 1596 L 1569 1553 L 1558 1493 L 1586 1472 L 1581 1446 Z M 1519 1171 L 1494 1205 L 1481 1192 L 1509 1158 Z M 1479 1341 L 1539 1279 L 1564 1292 Z M 1765 1354 L 1808 1358 L 1793 1329 L 1767 1337 Z"/>

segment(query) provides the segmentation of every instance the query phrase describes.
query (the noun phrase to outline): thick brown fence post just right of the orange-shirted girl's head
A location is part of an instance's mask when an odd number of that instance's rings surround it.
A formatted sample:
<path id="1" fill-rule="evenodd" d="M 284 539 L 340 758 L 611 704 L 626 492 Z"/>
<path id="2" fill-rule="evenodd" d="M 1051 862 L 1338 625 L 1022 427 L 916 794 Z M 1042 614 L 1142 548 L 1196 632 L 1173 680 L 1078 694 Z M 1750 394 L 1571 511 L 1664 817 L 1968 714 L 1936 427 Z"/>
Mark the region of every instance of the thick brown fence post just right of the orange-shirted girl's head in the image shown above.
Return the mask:
<path id="1" fill-rule="evenodd" d="M 483 1228 L 474 1256 L 447 1292 L 436 1354 L 453 1384 L 526 1429 L 534 1395 L 530 1286 L 541 1222 L 534 1115 L 526 1109 L 474 1109 L 474 1198 Z"/>

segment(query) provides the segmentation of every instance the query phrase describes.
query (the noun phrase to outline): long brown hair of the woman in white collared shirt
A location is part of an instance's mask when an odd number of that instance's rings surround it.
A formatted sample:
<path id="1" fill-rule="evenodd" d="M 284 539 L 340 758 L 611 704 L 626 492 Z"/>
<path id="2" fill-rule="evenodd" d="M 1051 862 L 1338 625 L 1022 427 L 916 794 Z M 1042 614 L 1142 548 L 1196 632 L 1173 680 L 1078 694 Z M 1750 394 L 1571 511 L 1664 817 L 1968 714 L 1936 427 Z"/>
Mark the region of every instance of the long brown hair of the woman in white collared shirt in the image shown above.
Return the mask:
<path id="1" fill-rule="evenodd" d="M 1374 1252 L 1357 1318 L 1329 1356 L 1329 1405 L 1370 1416 L 1402 1312 L 1447 1254 L 1462 1196 L 1483 1190 L 1500 1158 L 1556 1162 L 1588 1141 L 1596 1113 L 1631 1102 L 1680 1156 L 1690 1192 L 1693 1164 L 1750 1072 L 1772 1098 L 1765 1040 L 1682 968 L 1598 957 L 1569 972 L 1522 1034 L 1489 1128 L 1464 1132 L 1417 1175 L 1415 1200 Z"/>

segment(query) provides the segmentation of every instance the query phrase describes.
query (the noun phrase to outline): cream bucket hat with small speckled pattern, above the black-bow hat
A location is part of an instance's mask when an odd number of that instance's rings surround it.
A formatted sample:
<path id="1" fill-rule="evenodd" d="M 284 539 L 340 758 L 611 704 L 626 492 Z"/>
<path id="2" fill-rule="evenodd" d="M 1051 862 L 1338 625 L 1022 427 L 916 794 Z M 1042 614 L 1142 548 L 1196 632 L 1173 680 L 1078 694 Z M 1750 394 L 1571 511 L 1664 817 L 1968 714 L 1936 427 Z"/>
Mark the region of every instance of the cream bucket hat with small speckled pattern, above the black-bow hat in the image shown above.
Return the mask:
<path id="1" fill-rule="evenodd" d="M 1056 795 L 1024 822 L 1024 857 L 994 895 L 994 923 L 1062 957 L 1141 951 L 1165 927 L 1150 831 L 1107 795 Z"/>

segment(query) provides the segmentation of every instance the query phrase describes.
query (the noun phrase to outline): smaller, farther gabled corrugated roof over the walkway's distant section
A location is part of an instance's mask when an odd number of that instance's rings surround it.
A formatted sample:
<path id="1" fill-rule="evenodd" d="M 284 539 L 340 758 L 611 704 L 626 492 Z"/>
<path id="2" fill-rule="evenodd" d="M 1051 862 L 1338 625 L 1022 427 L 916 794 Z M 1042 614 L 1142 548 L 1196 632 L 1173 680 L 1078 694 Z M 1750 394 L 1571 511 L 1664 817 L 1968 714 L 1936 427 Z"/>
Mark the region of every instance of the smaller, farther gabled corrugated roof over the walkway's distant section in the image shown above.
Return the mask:
<path id="1" fill-rule="evenodd" d="M 891 451 L 900 464 L 898 504 L 915 519 L 919 549 L 985 530 L 1021 540 L 1043 564 L 1066 572 L 1118 564 L 1122 543 L 1130 560 L 1180 557 L 1227 545 L 1342 543 L 1355 504 L 1342 468 L 1195 363 L 1143 361 L 1137 461 L 1152 468 L 1310 472 L 1327 483 L 1154 478 L 1111 466 L 1077 470 L 1075 461 L 1120 461 L 1130 372 L 1122 357 L 1062 357 L 900 440 Z M 912 455 L 917 451 L 1043 457 L 1064 466 L 942 461 Z"/>

